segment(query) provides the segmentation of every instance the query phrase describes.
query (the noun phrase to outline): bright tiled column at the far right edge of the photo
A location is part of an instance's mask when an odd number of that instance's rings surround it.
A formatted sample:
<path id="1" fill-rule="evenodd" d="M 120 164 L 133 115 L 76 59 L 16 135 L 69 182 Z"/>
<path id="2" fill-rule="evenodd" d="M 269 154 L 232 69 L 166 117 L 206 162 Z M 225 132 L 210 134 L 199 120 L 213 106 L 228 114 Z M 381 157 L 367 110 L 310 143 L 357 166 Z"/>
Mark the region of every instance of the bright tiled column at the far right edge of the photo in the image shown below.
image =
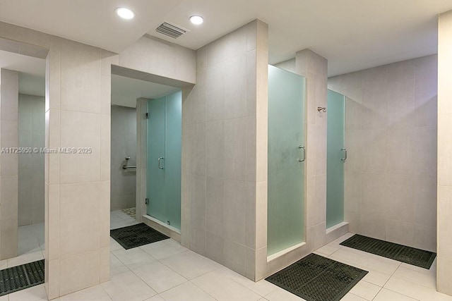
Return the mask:
<path id="1" fill-rule="evenodd" d="M 436 288 L 452 295 L 452 11 L 438 23 L 438 217 Z"/>

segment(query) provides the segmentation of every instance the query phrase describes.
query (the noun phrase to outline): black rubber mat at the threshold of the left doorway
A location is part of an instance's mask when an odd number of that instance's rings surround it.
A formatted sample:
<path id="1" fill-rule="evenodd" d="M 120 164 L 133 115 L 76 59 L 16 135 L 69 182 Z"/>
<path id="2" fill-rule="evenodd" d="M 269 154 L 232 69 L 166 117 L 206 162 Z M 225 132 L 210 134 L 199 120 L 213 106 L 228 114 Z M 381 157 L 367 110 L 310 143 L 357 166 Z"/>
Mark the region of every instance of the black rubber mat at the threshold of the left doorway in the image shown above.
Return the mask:
<path id="1" fill-rule="evenodd" d="M 145 223 L 110 230 L 110 236 L 126 250 L 169 238 Z"/>

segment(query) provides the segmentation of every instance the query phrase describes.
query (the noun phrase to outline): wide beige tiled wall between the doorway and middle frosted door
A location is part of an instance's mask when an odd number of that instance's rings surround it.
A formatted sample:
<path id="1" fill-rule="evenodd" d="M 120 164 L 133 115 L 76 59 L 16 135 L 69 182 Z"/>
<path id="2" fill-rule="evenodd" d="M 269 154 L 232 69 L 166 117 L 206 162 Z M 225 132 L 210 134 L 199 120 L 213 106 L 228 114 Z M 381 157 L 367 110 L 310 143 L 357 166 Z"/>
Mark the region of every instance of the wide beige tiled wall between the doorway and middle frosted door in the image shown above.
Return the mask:
<path id="1" fill-rule="evenodd" d="M 266 186 L 257 150 L 266 96 L 256 75 L 266 73 L 266 32 L 255 20 L 198 49 L 196 85 L 182 104 L 182 244 L 253 279 L 256 189 Z"/>

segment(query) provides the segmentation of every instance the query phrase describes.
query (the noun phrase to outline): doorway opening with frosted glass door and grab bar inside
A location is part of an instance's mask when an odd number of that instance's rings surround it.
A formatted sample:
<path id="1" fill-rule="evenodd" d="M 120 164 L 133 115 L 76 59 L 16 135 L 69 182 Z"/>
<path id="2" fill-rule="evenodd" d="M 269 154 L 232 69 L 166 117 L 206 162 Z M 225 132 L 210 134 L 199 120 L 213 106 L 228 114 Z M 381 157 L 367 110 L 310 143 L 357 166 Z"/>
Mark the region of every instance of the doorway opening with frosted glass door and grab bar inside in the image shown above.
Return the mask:
<path id="1" fill-rule="evenodd" d="M 186 83 L 144 74 L 112 66 L 110 228 L 145 223 L 180 241 Z"/>

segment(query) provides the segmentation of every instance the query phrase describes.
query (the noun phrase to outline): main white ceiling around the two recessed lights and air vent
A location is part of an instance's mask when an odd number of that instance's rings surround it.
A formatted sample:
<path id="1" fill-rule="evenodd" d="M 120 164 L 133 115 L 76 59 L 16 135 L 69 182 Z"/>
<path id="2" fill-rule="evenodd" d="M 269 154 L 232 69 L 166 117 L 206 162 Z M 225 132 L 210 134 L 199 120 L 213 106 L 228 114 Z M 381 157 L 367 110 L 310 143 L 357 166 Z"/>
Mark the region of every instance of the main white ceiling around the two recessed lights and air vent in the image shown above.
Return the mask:
<path id="1" fill-rule="evenodd" d="M 136 18 L 119 20 L 117 6 Z M 0 20 L 120 52 L 146 32 L 198 49 L 260 18 L 270 63 L 310 48 L 331 76 L 436 53 L 436 15 L 450 9 L 450 0 L 0 0 Z M 205 23 L 191 25 L 194 14 Z M 165 37 L 155 32 L 163 21 L 191 31 Z"/>

